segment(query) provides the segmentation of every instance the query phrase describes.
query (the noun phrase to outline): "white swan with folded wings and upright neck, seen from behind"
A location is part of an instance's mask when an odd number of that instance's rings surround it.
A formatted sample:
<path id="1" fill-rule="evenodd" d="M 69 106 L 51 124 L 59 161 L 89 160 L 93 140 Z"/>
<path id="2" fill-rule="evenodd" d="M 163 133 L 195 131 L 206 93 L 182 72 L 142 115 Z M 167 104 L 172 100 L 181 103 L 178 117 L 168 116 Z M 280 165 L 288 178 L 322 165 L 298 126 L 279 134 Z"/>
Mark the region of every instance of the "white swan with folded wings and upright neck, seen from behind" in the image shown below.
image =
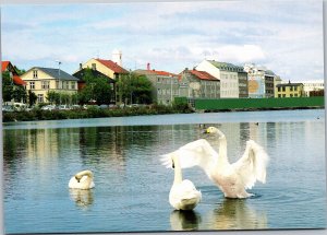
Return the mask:
<path id="1" fill-rule="evenodd" d="M 169 192 L 169 203 L 175 210 L 193 210 L 201 201 L 202 193 L 196 190 L 191 180 L 182 179 L 179 157 L 172 155 L 171 163 L 172 168 L 174 168 L 174 178 Z"/>

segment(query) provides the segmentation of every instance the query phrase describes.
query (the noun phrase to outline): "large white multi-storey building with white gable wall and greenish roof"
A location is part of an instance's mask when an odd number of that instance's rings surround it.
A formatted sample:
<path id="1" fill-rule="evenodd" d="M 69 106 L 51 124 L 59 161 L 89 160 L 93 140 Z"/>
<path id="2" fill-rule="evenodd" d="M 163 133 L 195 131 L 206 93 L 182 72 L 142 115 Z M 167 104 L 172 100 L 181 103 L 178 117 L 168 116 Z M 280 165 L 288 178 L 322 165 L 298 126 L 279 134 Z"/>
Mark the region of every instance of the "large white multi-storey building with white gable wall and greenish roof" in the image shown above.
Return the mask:
<path id="1" fill-rule="evenodd" d="M 244 80 L 247 78 L 245 79 L 243 67 L 215 60 L 203 60 L 195 69 L 205 71 L 220 81 L 221 98 L 238 98 L 246 95 L 247 84 Z"/>

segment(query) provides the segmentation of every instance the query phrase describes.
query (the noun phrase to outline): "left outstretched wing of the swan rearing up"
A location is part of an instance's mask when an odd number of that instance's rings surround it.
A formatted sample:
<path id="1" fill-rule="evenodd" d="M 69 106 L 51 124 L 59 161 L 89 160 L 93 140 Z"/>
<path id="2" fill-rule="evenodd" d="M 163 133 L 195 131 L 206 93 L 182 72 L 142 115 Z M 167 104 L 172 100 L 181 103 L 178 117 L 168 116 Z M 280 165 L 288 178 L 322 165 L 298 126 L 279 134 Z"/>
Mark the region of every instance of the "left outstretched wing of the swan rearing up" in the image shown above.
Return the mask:
<path id="1" fill-rule="evenodd" d="M 161 155 L 161 163 L 167 168 L 172 167 L 171 157 L 173 155 L 179 156 L 181 168 L 189 168 L 193 166 L 201 166 L 202 168 L 207 168 L 207 166 L 213 166 L 213 164 L 218 158 L 217 152 L 204 139 L 199 139 L 193 142 L 190 142 L 180 149 Z"/>

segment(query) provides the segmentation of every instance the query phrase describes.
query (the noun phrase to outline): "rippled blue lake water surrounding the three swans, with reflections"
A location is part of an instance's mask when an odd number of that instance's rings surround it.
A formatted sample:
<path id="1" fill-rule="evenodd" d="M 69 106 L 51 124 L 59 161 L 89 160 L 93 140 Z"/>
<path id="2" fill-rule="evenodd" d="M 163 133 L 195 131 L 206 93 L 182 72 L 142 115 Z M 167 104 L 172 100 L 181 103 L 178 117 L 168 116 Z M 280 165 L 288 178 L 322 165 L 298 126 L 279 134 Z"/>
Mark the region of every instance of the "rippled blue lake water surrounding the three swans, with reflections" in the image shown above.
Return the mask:
<path id="1" fill-rule="evenodd" d="M 255 122 L 258 122 L 256 125 Z M 203 193 L 173 211 L 173 171 L 159 156 L 219 127 L 230 162 L 249 138 L 270 156 L 255 197 L 225 199 L 199 168 L 183 172 Z M 3 125 L 5 233 L 158 232 L 326 227 L 325 110 L 160 115 Z M 70 190 L 82 169 L 92 190 Z"/>

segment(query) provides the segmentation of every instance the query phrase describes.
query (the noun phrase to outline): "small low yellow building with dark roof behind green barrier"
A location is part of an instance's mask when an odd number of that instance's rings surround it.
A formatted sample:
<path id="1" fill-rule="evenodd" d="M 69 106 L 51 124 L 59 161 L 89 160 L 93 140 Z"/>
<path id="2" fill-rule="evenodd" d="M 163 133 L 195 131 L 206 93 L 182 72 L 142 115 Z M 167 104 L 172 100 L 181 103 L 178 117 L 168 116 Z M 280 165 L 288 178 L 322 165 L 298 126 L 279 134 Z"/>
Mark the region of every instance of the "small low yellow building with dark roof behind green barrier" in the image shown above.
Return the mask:
<path id="1" fill-rule="evenodd" d="M 275 97 L 302 97 L 304 96 L 303 83 L 281 83 L 275 87 Z"/>

